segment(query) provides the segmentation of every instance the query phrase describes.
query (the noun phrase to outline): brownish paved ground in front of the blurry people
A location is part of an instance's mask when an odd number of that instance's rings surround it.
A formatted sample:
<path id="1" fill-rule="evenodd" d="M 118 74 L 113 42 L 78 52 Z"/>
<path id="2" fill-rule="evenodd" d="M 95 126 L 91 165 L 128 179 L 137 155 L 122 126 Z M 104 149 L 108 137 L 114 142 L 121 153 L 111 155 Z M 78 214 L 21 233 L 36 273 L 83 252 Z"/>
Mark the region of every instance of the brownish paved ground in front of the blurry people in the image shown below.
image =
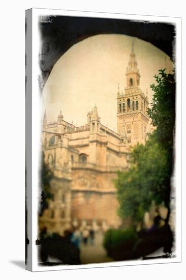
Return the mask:
<path id="1" fill-rule="evenodd" d="M 102 233 L 95 234 L 94 245 L 90 244 L 90 240 L 88 240 L 87 245 L 81 243 L 80 245 L 81 264 L 113 262 L 113 259 L 107 256 L 107 252 L 103 247 L 102 243 L 103 243 Z"/>

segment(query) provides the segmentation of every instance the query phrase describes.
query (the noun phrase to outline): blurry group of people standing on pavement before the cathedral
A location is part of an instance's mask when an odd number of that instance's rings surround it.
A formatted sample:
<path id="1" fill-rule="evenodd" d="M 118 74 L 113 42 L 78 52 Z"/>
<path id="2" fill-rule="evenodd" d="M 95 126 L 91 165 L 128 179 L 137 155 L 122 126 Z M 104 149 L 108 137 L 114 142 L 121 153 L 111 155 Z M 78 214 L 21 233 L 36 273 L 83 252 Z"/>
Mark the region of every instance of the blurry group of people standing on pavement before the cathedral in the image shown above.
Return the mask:
<path id="1" fill-rule="evenodd" d="M 83 242 L 84 245 L 87 245 L 88 241 L 89 241 L 91 245 L 94 245 L 94 240 L 95 240 L 95 231 L 92 228 L 90 228 L 90 229 L 76 228 L 73 231 L 72 237 L 71 237 L 72 243 L 74 243 L 77 248 L 79 248 L 81 242 Z"/>

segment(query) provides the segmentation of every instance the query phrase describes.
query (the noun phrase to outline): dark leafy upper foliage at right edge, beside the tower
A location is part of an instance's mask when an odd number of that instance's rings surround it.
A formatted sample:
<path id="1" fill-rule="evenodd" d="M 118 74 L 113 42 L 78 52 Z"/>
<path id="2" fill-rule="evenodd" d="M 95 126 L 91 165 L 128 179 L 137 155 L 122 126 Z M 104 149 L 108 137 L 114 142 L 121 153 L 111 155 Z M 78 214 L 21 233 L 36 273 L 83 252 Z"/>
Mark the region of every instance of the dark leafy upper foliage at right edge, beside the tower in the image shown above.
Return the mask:
<path id="1" fill-rule="evenodd" d="M 157 85 L 150 86 L 153 91 L 151 108 L 148 115 L 152 125 L 156 127 L 156 138 L 165 149 L 173 148 L 173 130 L 175 126 L 175 79 L 174 74 L 166 74 L 159 70 L 155 75 Z M 170 151 L 169 151 L 170 152 Z"/>

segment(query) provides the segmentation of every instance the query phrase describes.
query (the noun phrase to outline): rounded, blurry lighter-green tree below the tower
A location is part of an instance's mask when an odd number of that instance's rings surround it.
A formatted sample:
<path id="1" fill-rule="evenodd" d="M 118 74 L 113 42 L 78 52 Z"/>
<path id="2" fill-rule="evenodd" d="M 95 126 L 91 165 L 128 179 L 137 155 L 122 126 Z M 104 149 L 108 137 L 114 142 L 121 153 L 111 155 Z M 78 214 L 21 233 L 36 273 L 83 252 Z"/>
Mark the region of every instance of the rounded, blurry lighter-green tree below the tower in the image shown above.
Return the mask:
<path id="1" fill-rule="evenodd" d="M 151 202 L 157 205 L 166 200 L 168 175 L 167 152 L 150 138 L 146 145 L 137 145 L 131 153 L 131 167 L 118 172 L 116 179 L 119 215 L 141 221 Z"/>

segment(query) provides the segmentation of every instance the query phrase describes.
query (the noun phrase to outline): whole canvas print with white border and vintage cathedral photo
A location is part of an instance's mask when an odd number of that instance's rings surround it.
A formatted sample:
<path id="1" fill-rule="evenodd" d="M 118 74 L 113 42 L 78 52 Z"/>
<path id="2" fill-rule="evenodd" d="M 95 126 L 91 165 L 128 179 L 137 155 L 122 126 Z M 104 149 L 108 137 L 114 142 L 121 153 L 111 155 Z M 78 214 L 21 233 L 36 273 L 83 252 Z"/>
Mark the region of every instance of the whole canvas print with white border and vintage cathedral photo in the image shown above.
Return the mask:
<path id="1" fill-rule="evenodd" d="M 28 269 L 30 260 L 49 270 L 180 258 L 177 21 L 137 19 L 27 11 L 27 42 L 33 20 L 30 34 L 38 34 L 32 193 L 26 159 Z M 29 68 L 28 61 L 26 49 Z"/>

